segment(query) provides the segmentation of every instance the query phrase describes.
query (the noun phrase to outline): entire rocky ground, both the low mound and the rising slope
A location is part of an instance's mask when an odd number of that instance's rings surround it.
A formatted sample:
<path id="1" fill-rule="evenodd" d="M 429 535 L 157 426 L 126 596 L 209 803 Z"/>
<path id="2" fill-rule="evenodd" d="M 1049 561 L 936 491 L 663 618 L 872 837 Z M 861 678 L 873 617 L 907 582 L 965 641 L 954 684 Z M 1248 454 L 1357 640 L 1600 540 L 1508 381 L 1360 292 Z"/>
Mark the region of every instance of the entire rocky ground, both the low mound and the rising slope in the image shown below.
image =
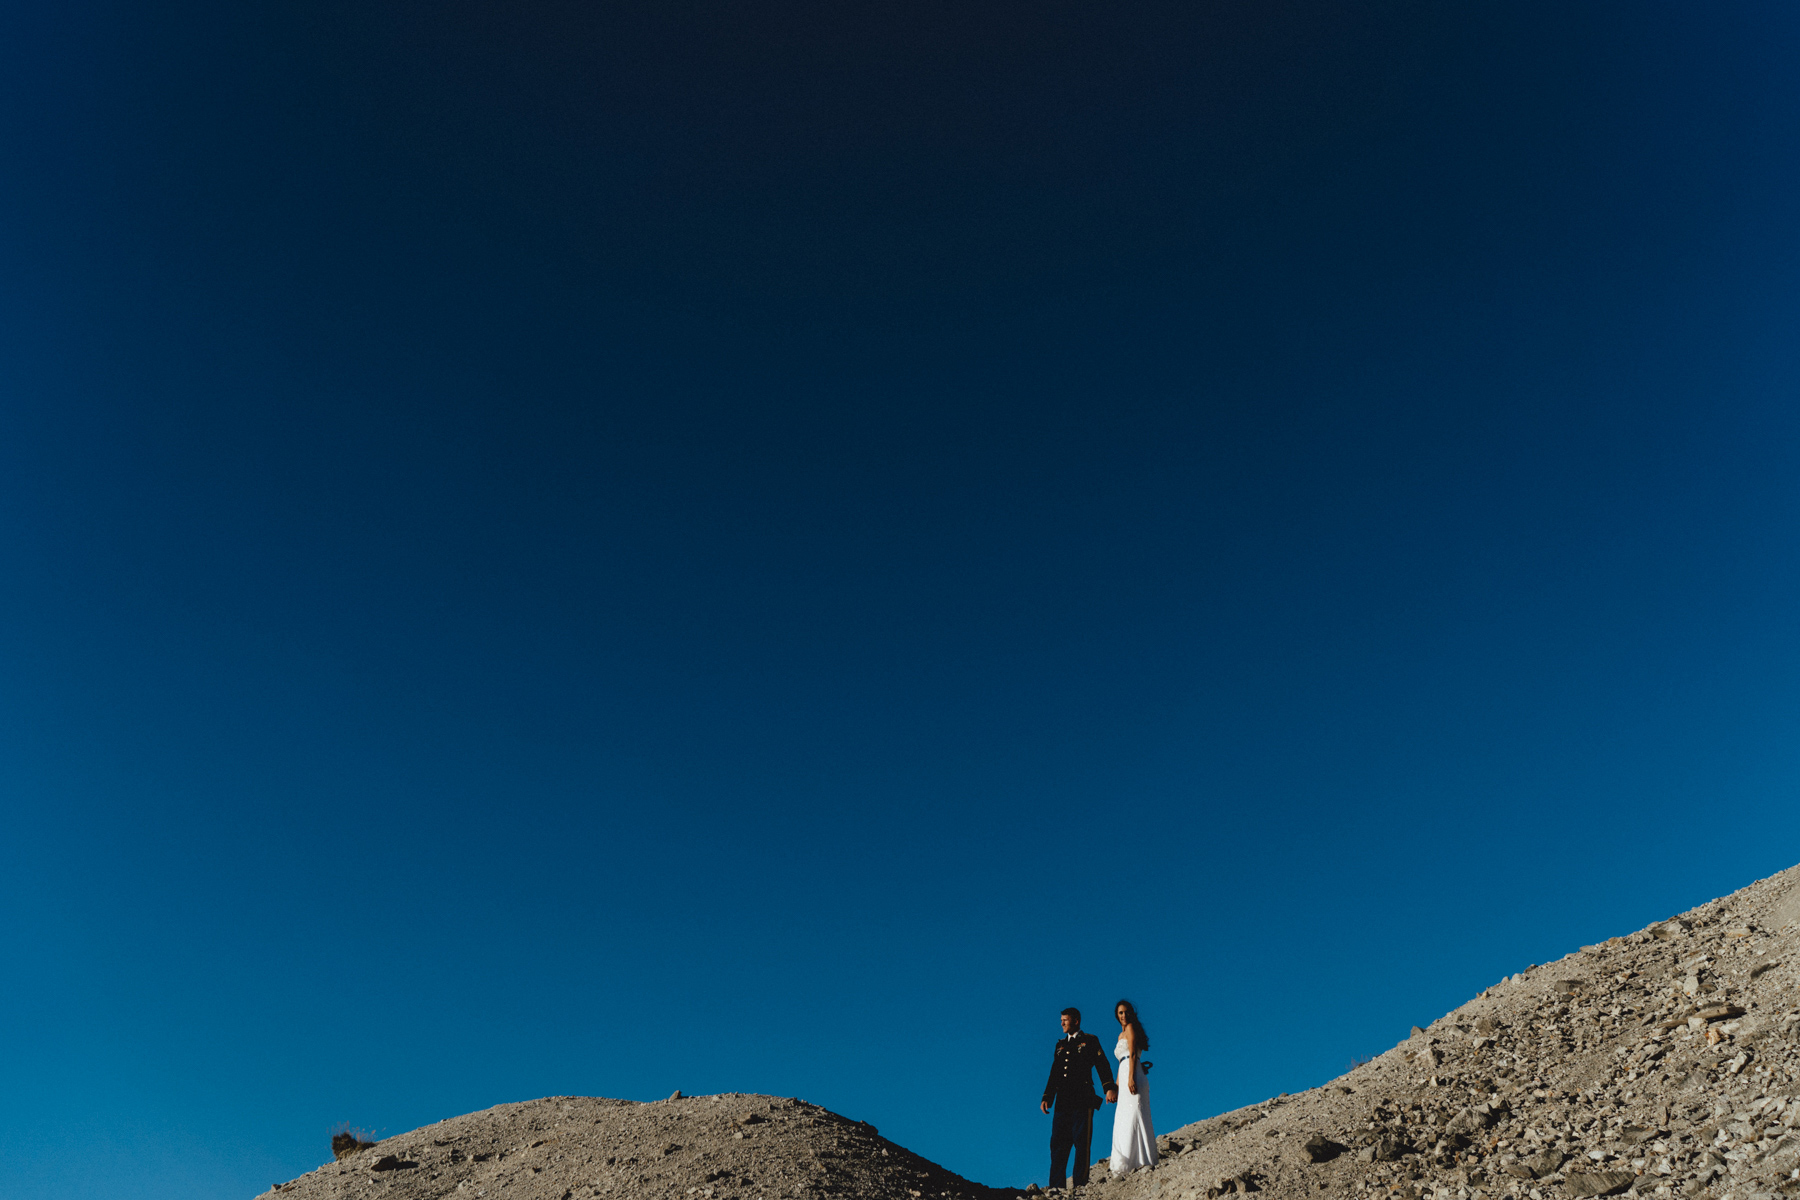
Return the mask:
<path id="1" fill-rule="evenodd" d="M 1109 1180 L 1102 1166 L 1085 1191 L 1091 1200 L 1800 1196 L 1796 982 L 1800 867 L 1503 979 L 1350 1074 L 1165 1133 L 1157 1168 Z M 265 1195 L 1019 1193 L 972 1184 L 875 1126 L 801 1101 L 677 1096 L 502 1105 L 358 1148 Z"/>

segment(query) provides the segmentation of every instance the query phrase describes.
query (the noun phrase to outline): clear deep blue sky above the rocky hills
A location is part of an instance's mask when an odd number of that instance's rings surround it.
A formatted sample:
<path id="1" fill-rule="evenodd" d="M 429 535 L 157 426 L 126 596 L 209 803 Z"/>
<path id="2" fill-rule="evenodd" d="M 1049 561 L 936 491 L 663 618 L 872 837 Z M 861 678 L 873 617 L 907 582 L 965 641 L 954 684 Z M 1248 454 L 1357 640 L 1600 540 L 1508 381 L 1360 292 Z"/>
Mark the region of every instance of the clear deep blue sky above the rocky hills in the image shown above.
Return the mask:
<path id="1" fill-rule="evenodd" d="M 1042 1180 L 1800 860 L 1784 5 L 0 13 L 0 1196 Z"/>

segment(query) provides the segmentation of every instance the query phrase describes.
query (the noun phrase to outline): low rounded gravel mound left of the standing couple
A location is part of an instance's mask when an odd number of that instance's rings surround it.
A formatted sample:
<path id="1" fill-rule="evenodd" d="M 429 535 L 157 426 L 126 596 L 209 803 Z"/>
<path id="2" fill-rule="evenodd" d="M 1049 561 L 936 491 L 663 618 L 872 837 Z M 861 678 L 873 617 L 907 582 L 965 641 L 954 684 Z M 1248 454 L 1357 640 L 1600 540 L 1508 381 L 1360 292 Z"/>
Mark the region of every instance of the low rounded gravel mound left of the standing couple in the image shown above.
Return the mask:
<path id="1" fill-rule="evenodd" d="M 292 1200 L 506 1196 L 871 1196 L 995 1193 L 796 1099 L 693 1096 L 639 1105 L 563 1096 L 500 1105 L 391 1137 L 265 1195 Z"/>

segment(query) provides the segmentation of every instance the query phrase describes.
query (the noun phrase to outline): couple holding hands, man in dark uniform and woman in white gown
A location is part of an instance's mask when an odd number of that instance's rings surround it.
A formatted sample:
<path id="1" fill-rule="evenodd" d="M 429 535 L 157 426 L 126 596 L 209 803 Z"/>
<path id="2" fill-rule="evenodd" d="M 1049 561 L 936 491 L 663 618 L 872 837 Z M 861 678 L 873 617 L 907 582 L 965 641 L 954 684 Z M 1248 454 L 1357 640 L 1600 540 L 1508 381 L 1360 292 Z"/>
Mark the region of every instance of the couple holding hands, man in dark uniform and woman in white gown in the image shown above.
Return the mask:
<path id="1" fill-rule="evenodd" d="M 1121 1094 L 1112 1081 L 1112 1067 L 1100 1051 L 1100 1038 L 1082 1033 L 1082 1009 L 1062 1009 L 1062 1038 L 1057 1052 L 1049 1060 L 1049 1083 L 1044 1085 L 1044 1103 L 1040 1108 L 1055 1114 L 1049 1123 L 1049 1186 L 1064 1186 L 1064 1164 L 1069 1151 L 1075 1151 L 1075 1186 L 1087 1182 L 1087 1157 L 1094 1141 L 1094 1110 L 1100 1097 L 1094 1096 L 1093 1072 L 1100 1072 L 1100 1081 L 1107 1094 L 1107 1103 L 1118 1103 L 1112 1115 L 1112 1157 L 1107 1168 L 1112 1175 L 1125 1175 L 1141 1166 L 1156 1166 L 1156 1126 L 1150 1124 L 1150 1063 L 1143 1061 L 1143 1052 L 1150 1049 L 1150 1034 L 1138 1020 L 1138 1009 L 1130 1000 L 1120 1000 L 1112 1007 L 1120 1020 L 1120 1040 L 1112 1045 L 1112 1056 L 1120 1060 L 1120 1076 L 1125 1079 Z"/>

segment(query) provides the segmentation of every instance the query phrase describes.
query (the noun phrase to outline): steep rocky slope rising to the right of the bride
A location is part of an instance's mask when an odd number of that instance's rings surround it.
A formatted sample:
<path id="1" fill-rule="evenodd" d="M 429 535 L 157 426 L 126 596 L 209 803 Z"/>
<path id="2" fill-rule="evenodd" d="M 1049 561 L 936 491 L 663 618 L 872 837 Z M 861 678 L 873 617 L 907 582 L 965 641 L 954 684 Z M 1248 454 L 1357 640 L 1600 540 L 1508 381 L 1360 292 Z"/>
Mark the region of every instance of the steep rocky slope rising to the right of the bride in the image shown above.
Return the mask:
<path id="1" fill-rule="evenodd" d="M 1087 1191 L 1800 1195 L 1796 981 L 1800 867 L 1503 979 L 1341 1079 L 1174 1130 L 1156 1169 Z"/>

